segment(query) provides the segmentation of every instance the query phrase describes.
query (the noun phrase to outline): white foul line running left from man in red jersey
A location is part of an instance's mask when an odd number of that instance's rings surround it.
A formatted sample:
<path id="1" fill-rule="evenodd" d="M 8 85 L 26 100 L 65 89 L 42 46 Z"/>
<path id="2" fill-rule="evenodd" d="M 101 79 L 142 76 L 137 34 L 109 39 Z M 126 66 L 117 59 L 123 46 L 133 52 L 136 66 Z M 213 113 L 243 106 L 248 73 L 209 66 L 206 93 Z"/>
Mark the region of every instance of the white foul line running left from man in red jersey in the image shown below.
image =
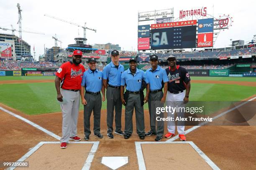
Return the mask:
<path id="1" fill-rule="evenodd" d="M 59 137 L 58 135 L 56 135 L 56 134 L 50 132 L 49 130 L 46 130 L 45 128 L 42 128 L 41 126 L 37 125 L 37 124 L 34 123 L 34 122 L 31 122 L 30 120 L 28 120 L 28 119 L 26 119 L 26 118 L 24 118 L 24 117 L 21 117 L 20 115 L 16 115 L 15 113 L 13 113 L 13 112 L 11 112 L 11 111 L 9 111 L 9 110 L 6 110 L 6 109 L 3 108 L 3 107 L 0 107 L 0 110 L 3 110 L 4 112 L 7 112 L 7 113 L 10 114 L 10 115 L 13 115 L 14 117 L 16 117 L 16 118 L 18 118 L 18 119 L 20 119 L 20 120 L 22 120 L 22 121 L 24 121 L 24 122 L 26 122 L 26 123 L 32 125 L 33 127 L 35 127 L 35 128 L 37 128 L 37 129 L 43 131 L 44 133 L 47 133 L 48 135 L 54 137 L 54 138 L 57 139 L 57 140 L 60 140 L 60 139 L 61 139 L 61 137 Z"/>

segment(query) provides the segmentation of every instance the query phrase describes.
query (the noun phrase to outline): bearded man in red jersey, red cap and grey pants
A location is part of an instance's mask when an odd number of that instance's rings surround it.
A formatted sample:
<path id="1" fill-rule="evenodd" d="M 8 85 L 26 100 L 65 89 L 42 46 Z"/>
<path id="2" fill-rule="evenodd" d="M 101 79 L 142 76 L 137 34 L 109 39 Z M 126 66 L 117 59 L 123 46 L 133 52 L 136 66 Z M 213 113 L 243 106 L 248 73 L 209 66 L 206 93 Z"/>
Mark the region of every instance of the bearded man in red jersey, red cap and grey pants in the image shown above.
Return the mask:
<path id="1" fill-rule="evenodd" d="M 84 66 L 82 51 L 74 50 L 73 60 L 65 62 L 56 72 L 55 87 L 57 100 L 61 102 L 62 138 L 61 148 L 67 148 L 69 140 L 79 141 L 77 137 L 77 117 L 80 104 L 80 88 Z"/>

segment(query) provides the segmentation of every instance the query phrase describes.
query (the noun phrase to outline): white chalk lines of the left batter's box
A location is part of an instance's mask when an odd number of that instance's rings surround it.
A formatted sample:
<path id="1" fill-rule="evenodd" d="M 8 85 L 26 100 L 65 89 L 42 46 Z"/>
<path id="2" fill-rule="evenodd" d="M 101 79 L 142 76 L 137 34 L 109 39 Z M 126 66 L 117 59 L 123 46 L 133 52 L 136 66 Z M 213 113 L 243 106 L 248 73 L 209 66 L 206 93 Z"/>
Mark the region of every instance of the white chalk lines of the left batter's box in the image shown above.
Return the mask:
<path id="1" fill-rule="evenodd" d="M 21 157 L 18 161 L 23 162 L 25 161 L 28 157 L 30 157 L 34 152 L 36 152 L 36 150 L 38 150 L 42 145 L 44 144 L 59 144 L 60 142 L 40 142 L 38 143 L 35 147 L 33 147 L 30 151 L 28 151 L 28 153 L 26 153 L 25 155 L 23 155 L 23 157 Z M 94 158 L 94 155 L 97 151 L 97 148 L 99 146 L 99 141 L 95 141 L 95 142 L 69 142 L 69 143 L 79 143 L 79 144 L 90 144 L 92 143 L 92 148 L 90 150 L 90 153 L 87 156 L 87 159 L 84 162 L 84 166 L 82 168 L 82 170 L 90 170 L 91 167 L 91 163 L 92 160 Z M 14 170 L 16 167 L 13 168 L 7 168 L 6 170 Z"/>

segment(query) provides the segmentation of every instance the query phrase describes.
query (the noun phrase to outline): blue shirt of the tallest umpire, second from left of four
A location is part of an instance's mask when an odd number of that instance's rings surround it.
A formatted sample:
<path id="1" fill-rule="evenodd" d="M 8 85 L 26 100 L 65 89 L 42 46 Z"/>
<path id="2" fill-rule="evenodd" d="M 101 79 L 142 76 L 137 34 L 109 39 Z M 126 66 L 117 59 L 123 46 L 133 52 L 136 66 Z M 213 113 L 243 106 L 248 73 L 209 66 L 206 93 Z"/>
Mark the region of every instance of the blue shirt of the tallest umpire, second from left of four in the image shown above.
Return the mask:
<path id="1" fill-rule="evenodd" d="M 120 64 L 118 68 L 111 61 L 108 65 L 106 65 L 103 69 L 103 79 L 108 79 L 108 84 L 112 86 L 120 86 L 121 75 L 124 72 L 123 65 Z"/>

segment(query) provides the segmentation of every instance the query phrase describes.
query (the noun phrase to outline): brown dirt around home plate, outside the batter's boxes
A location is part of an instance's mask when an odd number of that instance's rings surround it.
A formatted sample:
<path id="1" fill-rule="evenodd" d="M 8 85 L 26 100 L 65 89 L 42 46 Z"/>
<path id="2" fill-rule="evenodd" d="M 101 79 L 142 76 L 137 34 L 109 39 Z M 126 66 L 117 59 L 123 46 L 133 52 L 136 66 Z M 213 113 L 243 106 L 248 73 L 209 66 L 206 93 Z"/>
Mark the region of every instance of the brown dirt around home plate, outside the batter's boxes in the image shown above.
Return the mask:
<path id="1" fill-rule="evenodd" d="M 254 96 L 252 96 L 254 97 Z M 249 97 L 249 98 L 252 98 Z M 249 99 L 248 98 L 248 99 Z M 28 120 L 40 125 L 43 128 L 61 136 L 61 113 L 50 113 L 43 115 L 28 116 L 15 109 L 0 104 L 1 107 L 21 115 Z M 146 109 L 146 108 L 145 108 Z M 145 130 L 149 130 L 149 114 L 145 110 Z M 0 112 L 3 117 L 0 119 L 0 160 L 16 161 L 28 150 L 40 141 L 56 141 L 56 139 L 43 133 L 40 130 L 18 120 L 17 118 Z M 133 115 L 133 135 L 125 140 L 123 136 L 115 135 L 114 139 L 107 138 L 106 110 L 101 113 L 101 133 L 102 139 L 90 135 L 90 141 L 100 141 L 97 152 L 92 161 L 91 169 L 108 170 L 109 168 L 101 164 L 103 156 L 128 156 L 129 163 L 120 169 L 138 169 L 135 141 L 154 141 L 156 136 L 146 137 L 140 140 L 136 134 L 135 116 Z M 115 124 L 115 123 L 114 123 Z M 124 128 L 124 110 L 122 114 L 122 125 Z M 93 127 L 93 117 L 91 117 L 91 129 Z M 122 128 L 122 129 L 123 129 Z M 191 127 L 186 127 L 186 130 Z M 256 126 L 202 126 L 187 134 L 187 140 L 193 141 L 219 168 L 221 169 L 256 169 Z M 79 112 L 78 136 L 83 138 L 83 112 Z M 93 133 L 93 132 L 92 132 Z M 165 126 L 165 133 L 167 129 Z M 177 134 L 177 132 L 176 132 Z M 3 138 L 2 138 L 3 137 Z M 167 139 L 163 138 L 162 141 Z M 82 140 L 84 141 L 84 140 Z M 168 156 L 168 155 L 166 155 Z M 184 155 L 184 159 L 186 159 Z M 157 163 L 155 168 L 157 168 Z"/>

